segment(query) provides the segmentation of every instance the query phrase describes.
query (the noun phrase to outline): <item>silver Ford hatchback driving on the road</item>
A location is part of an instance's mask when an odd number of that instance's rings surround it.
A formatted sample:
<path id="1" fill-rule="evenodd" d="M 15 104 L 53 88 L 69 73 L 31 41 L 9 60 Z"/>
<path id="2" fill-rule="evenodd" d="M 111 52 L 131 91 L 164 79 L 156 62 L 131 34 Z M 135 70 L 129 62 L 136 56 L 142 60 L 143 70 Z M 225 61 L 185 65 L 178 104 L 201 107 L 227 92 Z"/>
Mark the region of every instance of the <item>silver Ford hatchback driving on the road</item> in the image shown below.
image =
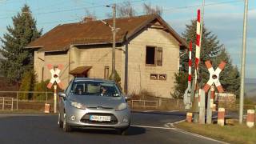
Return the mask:
<path id="1" fill-rule="evenodd" d="M 74 78 L 58 93 L 58 126 L 65 132 L 74 128 L 114 129 L 126 134 L 130 127 L 130 99 L 114 81 Z"/>

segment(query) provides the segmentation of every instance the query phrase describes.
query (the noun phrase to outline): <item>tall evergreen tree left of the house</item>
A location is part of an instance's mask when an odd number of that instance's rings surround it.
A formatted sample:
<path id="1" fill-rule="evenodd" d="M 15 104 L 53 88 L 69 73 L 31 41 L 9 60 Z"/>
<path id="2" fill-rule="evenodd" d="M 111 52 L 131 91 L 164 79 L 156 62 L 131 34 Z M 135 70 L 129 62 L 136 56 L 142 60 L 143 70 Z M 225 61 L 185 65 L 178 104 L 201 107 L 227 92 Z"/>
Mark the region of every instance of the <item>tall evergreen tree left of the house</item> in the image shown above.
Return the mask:
<path id="1" fill-rule="evenodd" d="M 26 45 L 39 38 L 42 30 L 36 27 L 30 7 L 22 7 L 21 13 L 12 18 L 13 27 L 7 26 L 7 33 L 3 35 L 0 52 L 5 57 L 0 62 L 2 74 L 12 82 L 19 82 L 25 71 L 33 67 L 33 54 L 24 49 Z"/>

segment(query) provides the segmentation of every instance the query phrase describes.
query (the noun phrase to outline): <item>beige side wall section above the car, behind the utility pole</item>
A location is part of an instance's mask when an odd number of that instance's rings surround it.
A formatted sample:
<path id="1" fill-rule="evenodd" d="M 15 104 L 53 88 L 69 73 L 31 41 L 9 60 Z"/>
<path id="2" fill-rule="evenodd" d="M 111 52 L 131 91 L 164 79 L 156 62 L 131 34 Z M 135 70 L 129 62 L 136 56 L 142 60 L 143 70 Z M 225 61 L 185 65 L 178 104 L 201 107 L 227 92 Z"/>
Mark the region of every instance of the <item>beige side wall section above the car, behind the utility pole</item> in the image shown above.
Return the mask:
<path id="1" fill-rule="evenodd" d="M 115 50 L 115 69 L 122 78 L 122 50 Z M 70 70 L 78 66 L 92 66 L 88 72 L 89 78 L 104 78 L 105 66 L 112 70 L 112 47 L 75 47 L 71 48 Z"/>

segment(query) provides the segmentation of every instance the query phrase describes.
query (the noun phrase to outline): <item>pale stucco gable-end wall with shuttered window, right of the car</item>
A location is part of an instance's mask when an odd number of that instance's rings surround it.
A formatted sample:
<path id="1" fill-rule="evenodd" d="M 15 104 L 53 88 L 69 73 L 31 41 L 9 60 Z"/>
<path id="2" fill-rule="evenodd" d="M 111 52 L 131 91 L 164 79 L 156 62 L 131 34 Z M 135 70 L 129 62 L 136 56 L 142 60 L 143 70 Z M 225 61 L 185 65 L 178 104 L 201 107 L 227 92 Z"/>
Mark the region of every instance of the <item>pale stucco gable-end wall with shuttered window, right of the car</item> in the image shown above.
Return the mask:
<path id="1" fill-rule="evenodd" d="M 162 47 L 162 66 L 146 66 L 146 46 Z M 178 41 L 163 30 L 149 28 L 130 41 L 128 50 L 129 94 L 147 90 L 171 98 L 174 73 L 178 71 Z M 151 80 L 150 74 L 166 74 L 166 80 Z"/>

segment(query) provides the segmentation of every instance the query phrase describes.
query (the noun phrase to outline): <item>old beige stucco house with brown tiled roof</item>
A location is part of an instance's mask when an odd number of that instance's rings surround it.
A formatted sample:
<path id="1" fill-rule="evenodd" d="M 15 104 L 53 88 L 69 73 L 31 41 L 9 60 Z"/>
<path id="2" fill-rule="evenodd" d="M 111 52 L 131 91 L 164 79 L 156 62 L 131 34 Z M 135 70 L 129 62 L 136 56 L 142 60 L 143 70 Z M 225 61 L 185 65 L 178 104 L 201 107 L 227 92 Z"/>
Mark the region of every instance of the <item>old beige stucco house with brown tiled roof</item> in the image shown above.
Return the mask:
<path id="1" fill-rule="evenodd" d="M 112 19 L 104 21 L 112 26 Z M 186 42 L 157 14 L 117 18 L 116 27 L 115 67 L 122 90 L 171 98 L 179 51 Z M 99 20 L 58 25 L 26 48 L 34 50 L 38 81 L 50 79 L 47 64 L 64 65 L 64 86 L 74 77 L 109 78 L 111 73 L 112 32 Z"/>

